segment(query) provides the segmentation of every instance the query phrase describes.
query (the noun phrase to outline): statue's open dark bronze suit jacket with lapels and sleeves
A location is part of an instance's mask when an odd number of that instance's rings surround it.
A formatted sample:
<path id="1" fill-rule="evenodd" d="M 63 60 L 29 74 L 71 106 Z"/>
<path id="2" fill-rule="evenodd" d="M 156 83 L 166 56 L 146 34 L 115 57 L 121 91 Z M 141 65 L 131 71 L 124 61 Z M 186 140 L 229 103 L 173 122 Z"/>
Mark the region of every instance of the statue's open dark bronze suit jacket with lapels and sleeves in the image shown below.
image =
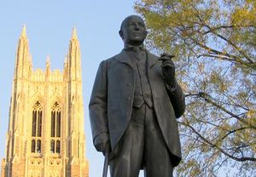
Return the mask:
<path id="1" fill-rule="evenodd" d="M 176 118 L 185 109 L 182 89 L 176 85 L 172 91 L 166 88 L 161 61 L 154 54 L 147 54 L 148 81 L 152 90 L 154 111 L 160 130 L 166 140 L 172 163 L 181 160 L 180 141 Z M 90 125 L 93 139 L 108 133 L 113 150 L 131 119 L 135 91 L 135 69 L 131 58 L 122 50 L 120 54 L 100 64 L 90 97 Z"/>

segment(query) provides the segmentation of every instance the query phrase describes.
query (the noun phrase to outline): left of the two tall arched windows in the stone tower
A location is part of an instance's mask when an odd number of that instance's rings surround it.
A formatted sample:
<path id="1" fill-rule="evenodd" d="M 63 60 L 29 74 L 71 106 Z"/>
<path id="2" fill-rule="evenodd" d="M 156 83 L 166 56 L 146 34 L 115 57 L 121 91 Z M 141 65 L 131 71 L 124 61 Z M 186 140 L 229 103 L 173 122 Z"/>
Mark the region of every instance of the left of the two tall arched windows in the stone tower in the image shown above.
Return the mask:
<path id="1" fill-rule="evenodd" d="M 33 153 L 41 152 L 41 136 L 42 136 L 42 111 L 43 107 L 37 101 L 32 107 L 32 142 L 31 151 Z"/>

